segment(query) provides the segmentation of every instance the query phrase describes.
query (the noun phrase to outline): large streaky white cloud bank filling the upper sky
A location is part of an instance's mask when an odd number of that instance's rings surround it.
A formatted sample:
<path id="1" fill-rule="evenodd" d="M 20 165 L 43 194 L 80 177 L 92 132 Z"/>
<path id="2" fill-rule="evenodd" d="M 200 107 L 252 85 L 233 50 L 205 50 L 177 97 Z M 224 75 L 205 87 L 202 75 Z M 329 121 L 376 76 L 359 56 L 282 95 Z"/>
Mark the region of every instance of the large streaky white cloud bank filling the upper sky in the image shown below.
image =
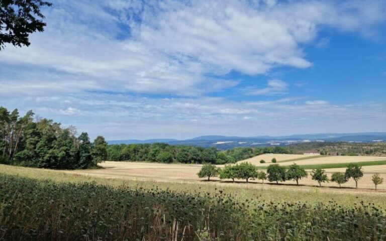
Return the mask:
<path id="1" fill-rule="evenodd" d="M 208 74 L 309 67 L 303 45 L 313 44 L 324 26 L 374 36 L 374 27 L 386 18 L 385 6 L 382 1 L 57 0 L 46 11 L 46 31 L 33 34 L 29 48 L 2 51 L 0 70 L 17 69 L 19 79 L 0 80 L 34 85 L 37 94 L 71 83 L 77 91 L 201 95 L 238 83 Z M 51 87 L 53 82 L 61 83 Z"/>

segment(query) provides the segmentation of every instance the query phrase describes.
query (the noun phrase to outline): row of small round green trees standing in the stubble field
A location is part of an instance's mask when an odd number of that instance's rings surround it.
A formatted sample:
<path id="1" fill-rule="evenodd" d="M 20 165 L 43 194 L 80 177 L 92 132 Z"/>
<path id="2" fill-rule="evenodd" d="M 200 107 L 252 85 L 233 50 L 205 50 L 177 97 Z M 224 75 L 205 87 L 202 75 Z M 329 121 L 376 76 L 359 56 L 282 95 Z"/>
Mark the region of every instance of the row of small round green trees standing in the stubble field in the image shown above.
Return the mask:
<path id="1" fill-rule="evenodd" d="M 339 187 L 341 187 L 341 184 L 348 182 L 348 180 L 352 178 L 355 181 L 355 188 L 358 188 L 358 181 L 363 177 L 362 167 L 355 163 L 349 164 L 344 173 L 333 173 L 331 178 L 328 178 L 325 172 L 326 171 L 321 168 L 312 170 L 312 180 L 317 181 L 319 186 L 322 186 L 322 183 L 324 182 L 332 181 L 336 182 Z M 276 182 L 276 184 L 278 184 L 278 182 L 296 181 L 296 184 L 299 185 L 299 181 L 303 178 L 307 178 L 308 173 L 304 167 L 299 166 L 296 163 L 289 166 L 271 164 L 267 167 L 265 172 L 259 171 L 256 165 L 243 162 L 236 165 L 225 165 L 223 168 L 206 163 L 197 175 L 200 178 L 208 178 L 208 181 L 210 181 L 211 177 L 219 177 L 221 180 L 232 179 L 233 182 L 235 179 L 245 179 L 246 182 L 250 179 L 259 179 L 262 180 L 262 183 L 264 183 L 265 180 L 268 180 L 269 182 Z M 371 180 L 375 186 L 375 190 L 377 185 L 383 183 L 383 178 L 380 177 L 378 173 L 375 173 Z"/>

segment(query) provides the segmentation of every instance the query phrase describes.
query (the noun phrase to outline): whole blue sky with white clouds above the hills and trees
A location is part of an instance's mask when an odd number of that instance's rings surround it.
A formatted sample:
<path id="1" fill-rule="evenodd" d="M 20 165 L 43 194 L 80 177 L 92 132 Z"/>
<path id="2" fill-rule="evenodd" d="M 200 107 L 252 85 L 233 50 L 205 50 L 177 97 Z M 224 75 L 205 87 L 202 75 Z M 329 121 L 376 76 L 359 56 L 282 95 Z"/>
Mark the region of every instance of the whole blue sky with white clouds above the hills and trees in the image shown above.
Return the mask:
<path id="1" fill-rule="evenodd" d="M 107 140 L 386 132 L 386 0 L 52 0 L 0 105 Z"/>

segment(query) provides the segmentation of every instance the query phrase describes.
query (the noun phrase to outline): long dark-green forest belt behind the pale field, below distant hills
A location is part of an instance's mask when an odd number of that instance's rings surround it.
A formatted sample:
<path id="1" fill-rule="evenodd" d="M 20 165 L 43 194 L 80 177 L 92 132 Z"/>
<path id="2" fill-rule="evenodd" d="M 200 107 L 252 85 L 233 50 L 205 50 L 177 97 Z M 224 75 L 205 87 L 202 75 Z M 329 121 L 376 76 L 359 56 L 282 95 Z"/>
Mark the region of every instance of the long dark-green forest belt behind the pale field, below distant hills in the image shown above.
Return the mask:
<path id="1" fill-rule="evenodd" d="M 236 163 L 264 153 L 291 153 L 289 149 L 283 147 L 234 148 L 219 151 L 214 147 L 204 148 L 165 143 L 110 145 L 107 152 L 107 160 L 110 161 L 213 164 Z"/>

